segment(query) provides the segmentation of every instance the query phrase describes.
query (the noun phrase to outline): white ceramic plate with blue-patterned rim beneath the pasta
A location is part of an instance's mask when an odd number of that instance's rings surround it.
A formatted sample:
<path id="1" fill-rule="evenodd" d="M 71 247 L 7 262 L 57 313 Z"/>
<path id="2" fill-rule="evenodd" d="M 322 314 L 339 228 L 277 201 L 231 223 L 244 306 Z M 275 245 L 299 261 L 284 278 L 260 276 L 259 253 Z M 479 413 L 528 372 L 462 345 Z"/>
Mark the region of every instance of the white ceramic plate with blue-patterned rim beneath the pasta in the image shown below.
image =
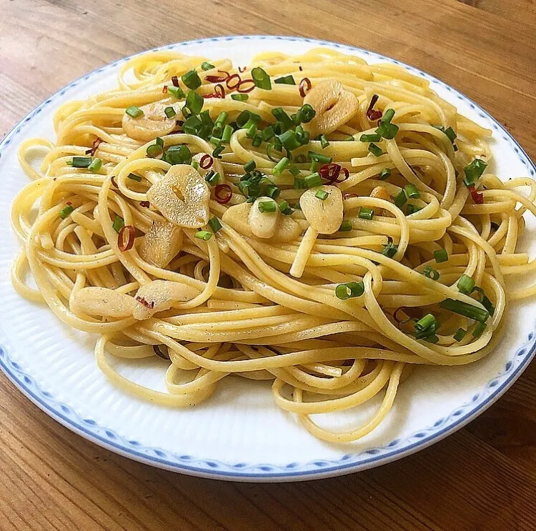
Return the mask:
<path id="1" fill-rule="evenodd" d="M 168 46 L 185 54 L 229 57 L 247 64 L 252 55 L 272 49 L 299 54 L 329 46 L 369 62 L 398 61 L 329 42 L 279 36 L 232 36 Z M 0 144 L 0 366 L 27 397 L 82 437 L 126 457 L 191 475 L 244 481 L 292 481 L 342 475 L 399 459 L 459 429 L 519 377 L 535 352 L 535 301 L 512 305 L 507 334 L 481 362 L 457 368 L 420 368 L 402 385 L 387 420 L 351 445 L 316 440 L 297 420 L 272 402 L 269 384 L 225 379 L 214 396 L 188 410 L 158 407 L 124 394 L 99 372 L 93 357 L 95 337 L 59 322 L 44 306 L 19 297 L 9 268 L 19 243 L 9 228 L 9 209 L 27 182 L 16 160 L 24 139 L 54 139 L 52 115 L 59 104 L 116 85 L 118 66 L 104 66 L 61 89 L 17 125 Z M 535 167 L 510 134 L 465 96 L 411 66 L 462 114 L 490 127 L 495 138 L 495 171 L 502 179 L 535 176 Z M 527 219 L 524 243 L 536 223 Z M 532 245 L 535 251 L 536 244 Z M 532 252 L 532 254 L 534 254 Z M 164 362 L 137 361 L 121 367 L 139 382 L 163 387 Z M 379 397 L 378 397 L 379 398 Z M 359 407 L 324 424 L 344 428 L 364 420 L 377 406 Z"/>

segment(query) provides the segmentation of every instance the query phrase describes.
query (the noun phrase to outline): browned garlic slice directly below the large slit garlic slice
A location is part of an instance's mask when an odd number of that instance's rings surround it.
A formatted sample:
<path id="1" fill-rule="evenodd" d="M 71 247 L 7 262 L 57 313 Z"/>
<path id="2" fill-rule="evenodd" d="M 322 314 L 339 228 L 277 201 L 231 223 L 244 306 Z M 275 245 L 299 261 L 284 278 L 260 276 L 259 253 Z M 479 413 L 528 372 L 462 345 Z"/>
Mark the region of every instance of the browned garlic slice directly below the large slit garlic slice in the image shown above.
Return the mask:
<path id="1" fill-rule="evenodd" d="M 167 221 L 153 222 L 138 247 L 139 256 L 158 267 L 166 267 L 182 246 L 182 229 Z"/>

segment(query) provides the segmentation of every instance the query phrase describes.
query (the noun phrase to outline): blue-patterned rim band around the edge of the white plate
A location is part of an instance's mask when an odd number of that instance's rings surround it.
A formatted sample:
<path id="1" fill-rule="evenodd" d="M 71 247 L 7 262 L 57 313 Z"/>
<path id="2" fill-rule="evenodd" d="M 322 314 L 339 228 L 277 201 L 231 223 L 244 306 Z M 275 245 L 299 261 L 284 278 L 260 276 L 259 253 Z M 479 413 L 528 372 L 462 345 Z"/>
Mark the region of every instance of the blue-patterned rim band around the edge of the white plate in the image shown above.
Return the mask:
<path id="1" fill-rule="evenodd" d="M 314 44 L 317 46 L 331 46 L 337 49 L 342 49 L 349 53 L 358 51 L 361 54 L 370 56 L 373 59 L 382 59 L 389 61 L 399 66 L 404 66 L 414 74 L 424 77 L 428 81 L 434 81 L 440 84 L 447 91 L 453 92 L 452 87 L 445 84 L 440 79 L 431 76 L 430 74 L 421 71 L 420 69 L 410 66 L 401 61 L 391 59 L 381 54 L 374 53 L 369 50 L 349 46 L 346 44 L 338 44 L 330 41 L 320 41 L 317 39 L 307 39 L 304 37 L 293 36 L 271 36 L 271 35 L 245 35 L 245 36 L 224 36 L 212 37 L 209 39 L 196 39 L 193 41 L 184 41 L 178 44 L 170 44 L 168 46 L 160 46 L 149 51 L 157 51 L 162 49 L 179 49 L 182 46 L 192 44 L 208 44 L 222 41 L 234 40 L 272 40 L 272 41 L 299 41 Z M 146 52 L 142 52 L 146 53 Z M 134 54 L 134 56 L 139 54 Z M 131 56 L 133 57 L 133 56 Z M 65 86 L 60 91 L 56 92 L 49 99 L 46 99 L 41 105 L 27 114 L 19 124 L 14 126 L 0 143 L 0 157 L 6 147 L 13 142 L 15 137 L 21 132 L 24 126 L 31 121 L 37 114 L 44 109 L 45 106 L 53 103 L 56 98 L 62 96 L 67 90 L 80 84 L 82 81 L 87 81 L 103 71 L 114 69 L 117 65 L 128 61 L 131 57 L 119 59 L 111 64 L 103 66 L 99 69 L 86 74 L 69 85 Z M 512 146 L 513 152 L 518 159 L 525 165 L 530 177 L 535 177 L 536 166 L 520 144 L 510 135 L 510 133 L 495 120 L 487 111 L 482 109 L 474 101 L 467 96 L 456 91 L 457 98 L 465 101 L 471 109 L 477 111 L 479 116 L 490 120 L 492 129 L 496 134 L 500 134 L 502 139 Z M 383 447 L 374 447 L 362 452 L 354 452 L 343 455 L 338 460 L 314 460 L 311 462 L 291 462 L 287 465 L 273 465 L 269 463 L 246 463 L 246 462 L 222 462 L 218 460 L 199 459 L 193 455 L 179 455 L 163 450 L 158 447 L 144 447 L 141 443 L 133 440 L 126 440 L 118 433 L 109 428 L 97 425 L 94 420 L 84 419 L 80 417 L 69 405 L 61 403 L 54 399 L 54 396 L 44 389 L 41 389 L 30 374 L 24 372 L 23 369 L 14 362 L 9 353 L 4 347 L 0 347 L 0 367 L 11 379 L 12 382 L 41 410 L 46 412 L 54 420 L 62 425 L 81 435 L 82 437 L 96 443 L 97 445 L 116 452 L 125 457 L 144 462 L 148 465 L 172 470 L 174 472 L 183 472 L 189 475 L 197 475 L 200 477 L 210 477 L 221 480 L 237 480 L 237 481 L 295 481 L 314 479 L 315 477 L 329 477 L 332 475 L 348 474 L 359 470 L 366 470 L 374 466 L 392 462 L 406 455 L 410 455 L 417 450 L 422 450 L 427 446 L 438 442 L 442 438 L 450 435 L 452 432 L 459 430 L 462 426 L 470 422 L 473 418 L 480 415 L 487 407 L 490 407 L 507 389 L 515 382 L 521 372 L 527 367 L 532 357 L 536 352 L 536 338 L 534 332 L 528 334 L 525 344 L 522 345 L 511 359 L 505 364 L 503 371 L 496 377 L 491 379 L 483 389 L 480 389 L 471 400 L 464 405 L 457 407 L 450 415 L 446 415 L 437 419 L 430 427 L 425 430 L 420 430 L 405 437 L 401 440 L 393 440 L 388 445 Z"/>

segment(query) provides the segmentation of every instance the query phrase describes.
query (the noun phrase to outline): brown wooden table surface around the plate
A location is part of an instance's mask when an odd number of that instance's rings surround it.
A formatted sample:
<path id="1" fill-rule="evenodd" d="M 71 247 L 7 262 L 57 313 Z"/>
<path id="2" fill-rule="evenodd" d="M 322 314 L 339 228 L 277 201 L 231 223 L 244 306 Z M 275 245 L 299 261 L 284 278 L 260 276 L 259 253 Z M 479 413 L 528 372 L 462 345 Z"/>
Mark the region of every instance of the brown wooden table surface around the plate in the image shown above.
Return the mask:
<path id="1" fill-rule="evenodd" d="M 467 5 L 466 5 L 467 4 Z M 0 135 L 72 79 L 154 46 L 297 34 L 414 64 L 482 104 L 536 159 L 532 0 L 0 0 Z M 0 375 L 0 529 L 536 529 L 536 364 L 465 429 L 376 470 L 201 480 L 81 439 Z"/>

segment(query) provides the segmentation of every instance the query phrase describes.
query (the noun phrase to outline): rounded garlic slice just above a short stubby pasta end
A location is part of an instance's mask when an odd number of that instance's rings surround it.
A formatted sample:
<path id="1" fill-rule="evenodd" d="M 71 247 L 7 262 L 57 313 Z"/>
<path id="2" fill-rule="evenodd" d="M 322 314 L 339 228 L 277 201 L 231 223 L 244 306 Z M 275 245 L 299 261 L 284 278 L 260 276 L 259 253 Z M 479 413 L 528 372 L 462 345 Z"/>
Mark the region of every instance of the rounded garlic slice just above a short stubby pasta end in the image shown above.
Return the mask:
<path id="1" fill-rule="evenodd" d="M 318 190 L 329 195 L 322 201 L 316 197 Z M 337 187 L 315 187 L 306 190 L 299 198 L 299 206 L 309 225 L 319 234 L 333 234 L 339 230 L 343 217 L 342 193 Z"/>

